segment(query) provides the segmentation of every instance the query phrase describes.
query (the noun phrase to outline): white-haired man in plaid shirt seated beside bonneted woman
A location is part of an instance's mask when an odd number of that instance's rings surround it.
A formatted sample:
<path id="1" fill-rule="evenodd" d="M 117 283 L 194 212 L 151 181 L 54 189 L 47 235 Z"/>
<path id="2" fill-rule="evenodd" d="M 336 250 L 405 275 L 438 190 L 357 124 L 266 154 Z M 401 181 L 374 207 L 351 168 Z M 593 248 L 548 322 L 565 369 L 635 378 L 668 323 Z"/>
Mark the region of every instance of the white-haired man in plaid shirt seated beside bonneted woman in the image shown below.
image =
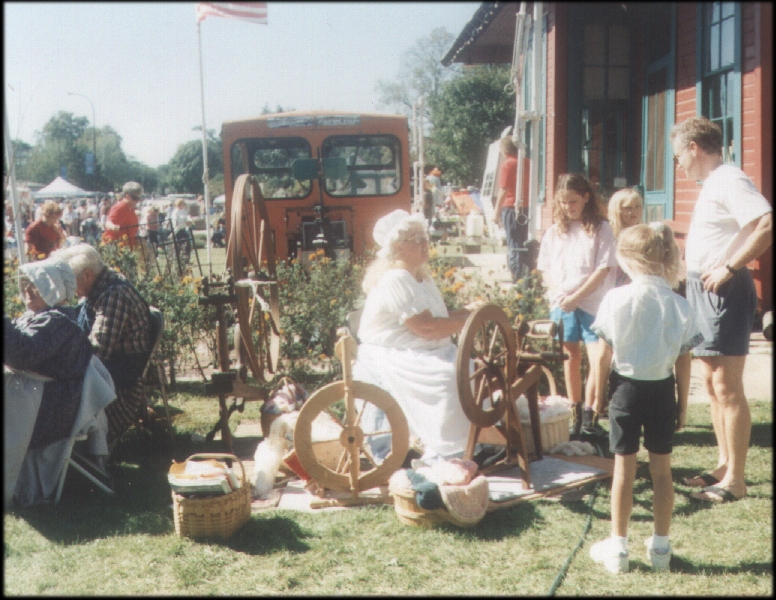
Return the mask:
<path id="1" fill-rule="evenodd" d="M 121 274 L 106 267 L 89 244 L 57 251 L 76 275 L 85 297 L 78 324 L 89 333 L 97 357 L 113 377 L 117 399 L 105 408 L 108 446 L 112 448 L 135 422 L 145 402 L 141 376 L 151 351 L 148 303 Z"/>

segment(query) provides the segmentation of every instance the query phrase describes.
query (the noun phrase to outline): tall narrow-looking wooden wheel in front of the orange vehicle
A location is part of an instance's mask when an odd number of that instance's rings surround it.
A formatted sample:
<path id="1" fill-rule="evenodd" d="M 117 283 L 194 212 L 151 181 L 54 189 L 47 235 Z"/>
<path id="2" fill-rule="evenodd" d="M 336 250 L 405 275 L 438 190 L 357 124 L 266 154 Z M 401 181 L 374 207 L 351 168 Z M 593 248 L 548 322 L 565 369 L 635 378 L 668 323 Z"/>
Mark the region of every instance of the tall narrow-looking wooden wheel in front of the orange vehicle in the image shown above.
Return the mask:
<path id="1" fill-rule="evenodd" d="M 252 175 L 240 175 L 235 182 L 229 231 L 226 266 L 232 270 L 237 295 L 238 352 L 253 376 L 264 381 L 265 369 L 277 371 L 280 298 L 267 207 Z"/>

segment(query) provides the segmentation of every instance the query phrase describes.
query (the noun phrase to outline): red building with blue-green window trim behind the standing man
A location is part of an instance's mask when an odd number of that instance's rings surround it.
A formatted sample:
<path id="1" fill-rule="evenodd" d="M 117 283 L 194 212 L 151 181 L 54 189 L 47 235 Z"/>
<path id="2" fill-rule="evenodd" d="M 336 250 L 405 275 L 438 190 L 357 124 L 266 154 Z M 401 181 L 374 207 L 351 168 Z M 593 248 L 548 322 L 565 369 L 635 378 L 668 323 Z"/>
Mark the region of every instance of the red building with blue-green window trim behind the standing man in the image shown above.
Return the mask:
<path id="1" fill-rule="evenodd" d="M 604 199 L 637 187 L 645 220 L 665 221 L 683 246 L 699 186 L 675 167 L 669 132 L 695 115 L 721 127 L 724 160 L 773 202 L 772 4 L 486 2 L 442 63 L 509 64 L 515 54 L 531 109 L 535 237 L 552 224 L 558 176 L 582 172 Z M 772 310 L 771 252 L 749 268 L 760 309 Z"/>

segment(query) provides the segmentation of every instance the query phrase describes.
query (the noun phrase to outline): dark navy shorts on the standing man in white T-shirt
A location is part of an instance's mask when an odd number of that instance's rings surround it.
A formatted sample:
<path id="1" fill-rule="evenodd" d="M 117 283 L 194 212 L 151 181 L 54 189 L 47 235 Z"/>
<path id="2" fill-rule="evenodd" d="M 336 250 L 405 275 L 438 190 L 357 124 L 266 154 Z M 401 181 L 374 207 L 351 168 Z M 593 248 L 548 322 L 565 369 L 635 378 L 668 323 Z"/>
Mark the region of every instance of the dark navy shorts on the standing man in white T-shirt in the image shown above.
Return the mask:
<path id="1" fill-rule="evenodd" d="M 695 314 L 703 342 L 693 356 L 744 356 L 757 310 L 757 290 L 749 269 L 739 269 L 719 293 L 703 289 L 700 274 L 687 273 L 687 301 Z"/>

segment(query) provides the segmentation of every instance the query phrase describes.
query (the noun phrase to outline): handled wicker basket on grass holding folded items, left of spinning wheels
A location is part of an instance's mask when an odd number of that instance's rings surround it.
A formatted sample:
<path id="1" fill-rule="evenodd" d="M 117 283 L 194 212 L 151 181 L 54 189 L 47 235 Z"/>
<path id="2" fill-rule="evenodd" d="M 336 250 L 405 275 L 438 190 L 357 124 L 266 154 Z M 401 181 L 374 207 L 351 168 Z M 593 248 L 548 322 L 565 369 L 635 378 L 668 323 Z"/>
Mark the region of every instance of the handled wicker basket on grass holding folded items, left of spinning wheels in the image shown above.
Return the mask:
<path id="1" fill-rule="evenodd" d="M 242 469 L 242 487 L 211 498 L 186 498 L 173 492 L 175 533 L 188 538 L 227 539 L 251 517 L 251 486 L 245 478 L 245 466 L 233 454 L 193 454 L 186 462 L 194 458 L 237 461 Z"/>

